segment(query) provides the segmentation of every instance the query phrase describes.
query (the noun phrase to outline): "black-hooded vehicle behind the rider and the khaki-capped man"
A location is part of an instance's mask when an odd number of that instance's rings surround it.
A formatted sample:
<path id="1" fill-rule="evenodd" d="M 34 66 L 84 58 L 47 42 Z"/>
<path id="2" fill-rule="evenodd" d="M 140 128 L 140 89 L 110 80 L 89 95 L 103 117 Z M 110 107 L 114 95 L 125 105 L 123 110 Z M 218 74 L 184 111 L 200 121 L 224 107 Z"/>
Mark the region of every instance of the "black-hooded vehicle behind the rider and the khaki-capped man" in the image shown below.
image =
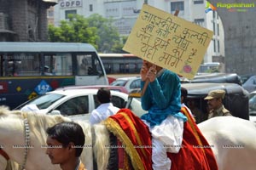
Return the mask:
<path id="1" fill-rule="evenodd" d="M 201 122 L 207 120 L 207 100 L 204 98 L 208 92 L 214 89 L 223 89 L 226 94 L 224 97 L 224 106 L 233 116 L 249 120 L 249 94 L 247 90 L 236 83 L 213 83 L 213 82 L 198 82 L 198 83 L 182 83 L 181 86 L 188 90 L 188 99 L 195 100 L 196 107 L 199 108 L 203 115 Z M 125 107 L 131 108 L 133 99 L 140 101 L 141 89 L 137 88 L 131 91 L 129 99 Z M 133 104 L 132 104 L 133 105 Z M 137 108 L 137 114 L 142 115 L 147 111 L 142 108 Z M 200 122 L 197 122 L 200 123 Z"/>

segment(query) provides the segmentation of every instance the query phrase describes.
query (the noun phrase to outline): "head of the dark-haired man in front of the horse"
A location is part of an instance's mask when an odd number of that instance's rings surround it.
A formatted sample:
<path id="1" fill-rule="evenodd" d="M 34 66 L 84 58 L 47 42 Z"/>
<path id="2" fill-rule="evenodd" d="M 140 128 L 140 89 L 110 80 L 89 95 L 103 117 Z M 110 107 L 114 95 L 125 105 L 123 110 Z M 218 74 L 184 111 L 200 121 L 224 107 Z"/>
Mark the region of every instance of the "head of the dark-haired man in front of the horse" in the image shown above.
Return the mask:
<path id="1" fill-rule="evenodd" d="M 83 151 L 84 132 L 75 122 L 61 122 L 46 130 L 46 154 L 53 164 L 61 164 L 72 156 L 79 157 Z"/>

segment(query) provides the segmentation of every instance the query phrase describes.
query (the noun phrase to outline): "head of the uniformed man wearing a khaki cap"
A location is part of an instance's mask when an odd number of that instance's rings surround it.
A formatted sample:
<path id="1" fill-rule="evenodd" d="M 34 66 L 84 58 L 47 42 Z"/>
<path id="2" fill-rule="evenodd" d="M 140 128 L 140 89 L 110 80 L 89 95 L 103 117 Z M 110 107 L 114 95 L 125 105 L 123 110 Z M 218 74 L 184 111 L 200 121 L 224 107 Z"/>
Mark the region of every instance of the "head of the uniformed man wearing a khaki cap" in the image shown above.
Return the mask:
<path id="1" fill-rule="evenodd" d="M 208 93 L 207 105 L 210 110 L 217 110 L 222 104 L 222 99 L 224 99 L 225 91 L 224 90 L 212 90 Z"/>

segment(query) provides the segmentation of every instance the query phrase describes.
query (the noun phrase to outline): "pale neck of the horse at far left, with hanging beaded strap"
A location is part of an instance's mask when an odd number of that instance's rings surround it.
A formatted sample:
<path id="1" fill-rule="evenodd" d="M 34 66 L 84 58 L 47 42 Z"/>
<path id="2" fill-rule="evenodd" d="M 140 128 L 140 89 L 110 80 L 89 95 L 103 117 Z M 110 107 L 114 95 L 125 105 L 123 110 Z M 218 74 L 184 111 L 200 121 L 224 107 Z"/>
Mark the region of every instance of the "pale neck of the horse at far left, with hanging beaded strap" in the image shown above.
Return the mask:
<path id="1" fill-rule="evenodd" d="M 70 120 L 62 116 L 9 111 L 7 107 L 0 107 L 2 150 L 10 160 L 26 169 L 44 169 L 45 165 L 49 165 L 49 169 L 58 169 L 58 166 L 51 165 L 43 146 L 47 138 L 45 129 L 63 121 Z"/>

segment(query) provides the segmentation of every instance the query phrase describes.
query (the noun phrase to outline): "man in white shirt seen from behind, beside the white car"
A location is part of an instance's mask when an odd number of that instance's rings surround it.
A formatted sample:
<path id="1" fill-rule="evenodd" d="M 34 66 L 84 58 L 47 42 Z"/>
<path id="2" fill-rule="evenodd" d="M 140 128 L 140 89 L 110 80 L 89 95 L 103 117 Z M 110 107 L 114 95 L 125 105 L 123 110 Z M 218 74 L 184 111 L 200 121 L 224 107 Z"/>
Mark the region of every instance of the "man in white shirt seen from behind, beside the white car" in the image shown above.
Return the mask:
<path id="1" fill-rule="evenodd" d="M 110 101 L 111 94 L 108 88 L 100 88 L 96 97 L 101 105 L 91 112 L 89 119 L 91 125 L 102 122 L 107 119 L 108 116 L 112 116 L 119 111 L 119 108 L 113 106 Z"/>

